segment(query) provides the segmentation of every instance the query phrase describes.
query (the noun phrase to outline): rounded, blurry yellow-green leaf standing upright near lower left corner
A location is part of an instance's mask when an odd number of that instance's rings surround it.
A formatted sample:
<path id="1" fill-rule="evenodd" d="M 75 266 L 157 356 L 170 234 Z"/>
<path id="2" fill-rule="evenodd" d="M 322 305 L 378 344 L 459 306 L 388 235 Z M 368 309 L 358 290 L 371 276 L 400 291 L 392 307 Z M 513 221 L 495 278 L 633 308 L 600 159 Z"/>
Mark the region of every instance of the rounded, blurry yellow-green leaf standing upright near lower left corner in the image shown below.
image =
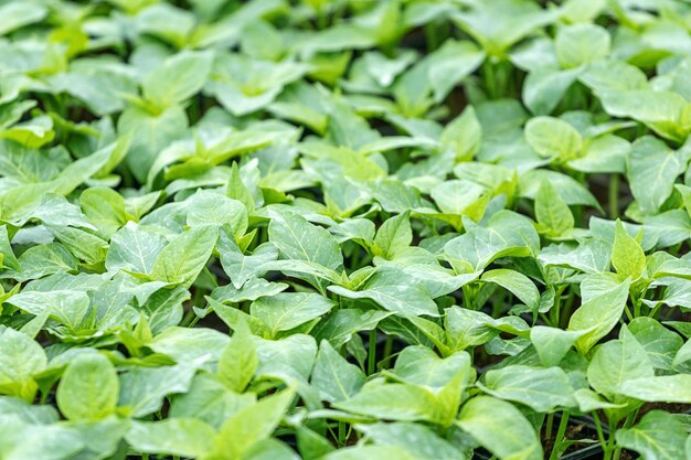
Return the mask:
<path id="1" fill-rule="evenodd" d="M 119 395 L 115 367 L 102 354 L 71 361 L 57 385 L 57 407 L 70 420 L 95 420 L 115 411 Z"/>

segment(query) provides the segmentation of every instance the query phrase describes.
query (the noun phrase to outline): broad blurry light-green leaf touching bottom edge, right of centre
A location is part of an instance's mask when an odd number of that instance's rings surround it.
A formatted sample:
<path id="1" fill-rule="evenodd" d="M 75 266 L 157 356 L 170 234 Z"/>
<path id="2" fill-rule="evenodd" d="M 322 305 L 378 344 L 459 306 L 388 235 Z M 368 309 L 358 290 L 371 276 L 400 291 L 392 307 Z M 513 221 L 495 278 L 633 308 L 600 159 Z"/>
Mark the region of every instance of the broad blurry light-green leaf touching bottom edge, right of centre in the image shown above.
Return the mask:
<path id="1" fill-rule="evenodd" d="M 463 406 L 456 424 L 500 459 L 542 459 L 534 428 L 509 403 L 477 396 Z"/>

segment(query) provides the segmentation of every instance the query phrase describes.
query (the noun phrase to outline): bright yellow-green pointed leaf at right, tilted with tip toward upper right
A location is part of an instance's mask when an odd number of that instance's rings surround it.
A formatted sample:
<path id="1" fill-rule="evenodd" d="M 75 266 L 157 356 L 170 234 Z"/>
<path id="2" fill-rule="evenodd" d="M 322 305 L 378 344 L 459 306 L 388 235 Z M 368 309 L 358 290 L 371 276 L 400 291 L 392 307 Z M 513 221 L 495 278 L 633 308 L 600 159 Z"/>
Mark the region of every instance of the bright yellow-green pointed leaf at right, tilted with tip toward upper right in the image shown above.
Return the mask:
<path id="1" fill-rule="evenodd" d="M 581 353 L 587 353 L 617 324 L 626 307 L 630 279 L 627 279 L 587 300 L 572 314 L 567 330 L 587 331 L 576 340 Z"/>

